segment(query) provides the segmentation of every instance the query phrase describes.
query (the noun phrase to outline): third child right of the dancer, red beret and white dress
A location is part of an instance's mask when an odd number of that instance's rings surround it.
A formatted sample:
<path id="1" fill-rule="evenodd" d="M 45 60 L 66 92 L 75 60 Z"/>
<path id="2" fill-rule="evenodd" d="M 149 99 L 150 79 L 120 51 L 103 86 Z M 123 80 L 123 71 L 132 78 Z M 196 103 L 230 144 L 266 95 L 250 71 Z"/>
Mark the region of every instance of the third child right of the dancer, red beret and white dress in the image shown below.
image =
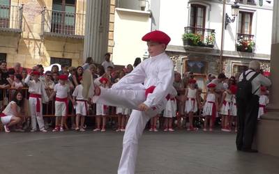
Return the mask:
<path id="1" fill-rule="evenodd" d="M 213 124 L 215 122 L 217 109 L 218 109 L 218 98 L 216 97 L 215 88 L 216 84 L 209 84 L 207 85 L 207 88 L 209 88 L 208 92 L 206 93 L 206 96 L 204 97 L 206 101 L 204 101 L 204 109 L 203 109 L 203 115 L 204 115 L 204 131 L 207 131 L 207 122 L 210 119 L 209 122 L 209 131 L 213 131 Z"/>

